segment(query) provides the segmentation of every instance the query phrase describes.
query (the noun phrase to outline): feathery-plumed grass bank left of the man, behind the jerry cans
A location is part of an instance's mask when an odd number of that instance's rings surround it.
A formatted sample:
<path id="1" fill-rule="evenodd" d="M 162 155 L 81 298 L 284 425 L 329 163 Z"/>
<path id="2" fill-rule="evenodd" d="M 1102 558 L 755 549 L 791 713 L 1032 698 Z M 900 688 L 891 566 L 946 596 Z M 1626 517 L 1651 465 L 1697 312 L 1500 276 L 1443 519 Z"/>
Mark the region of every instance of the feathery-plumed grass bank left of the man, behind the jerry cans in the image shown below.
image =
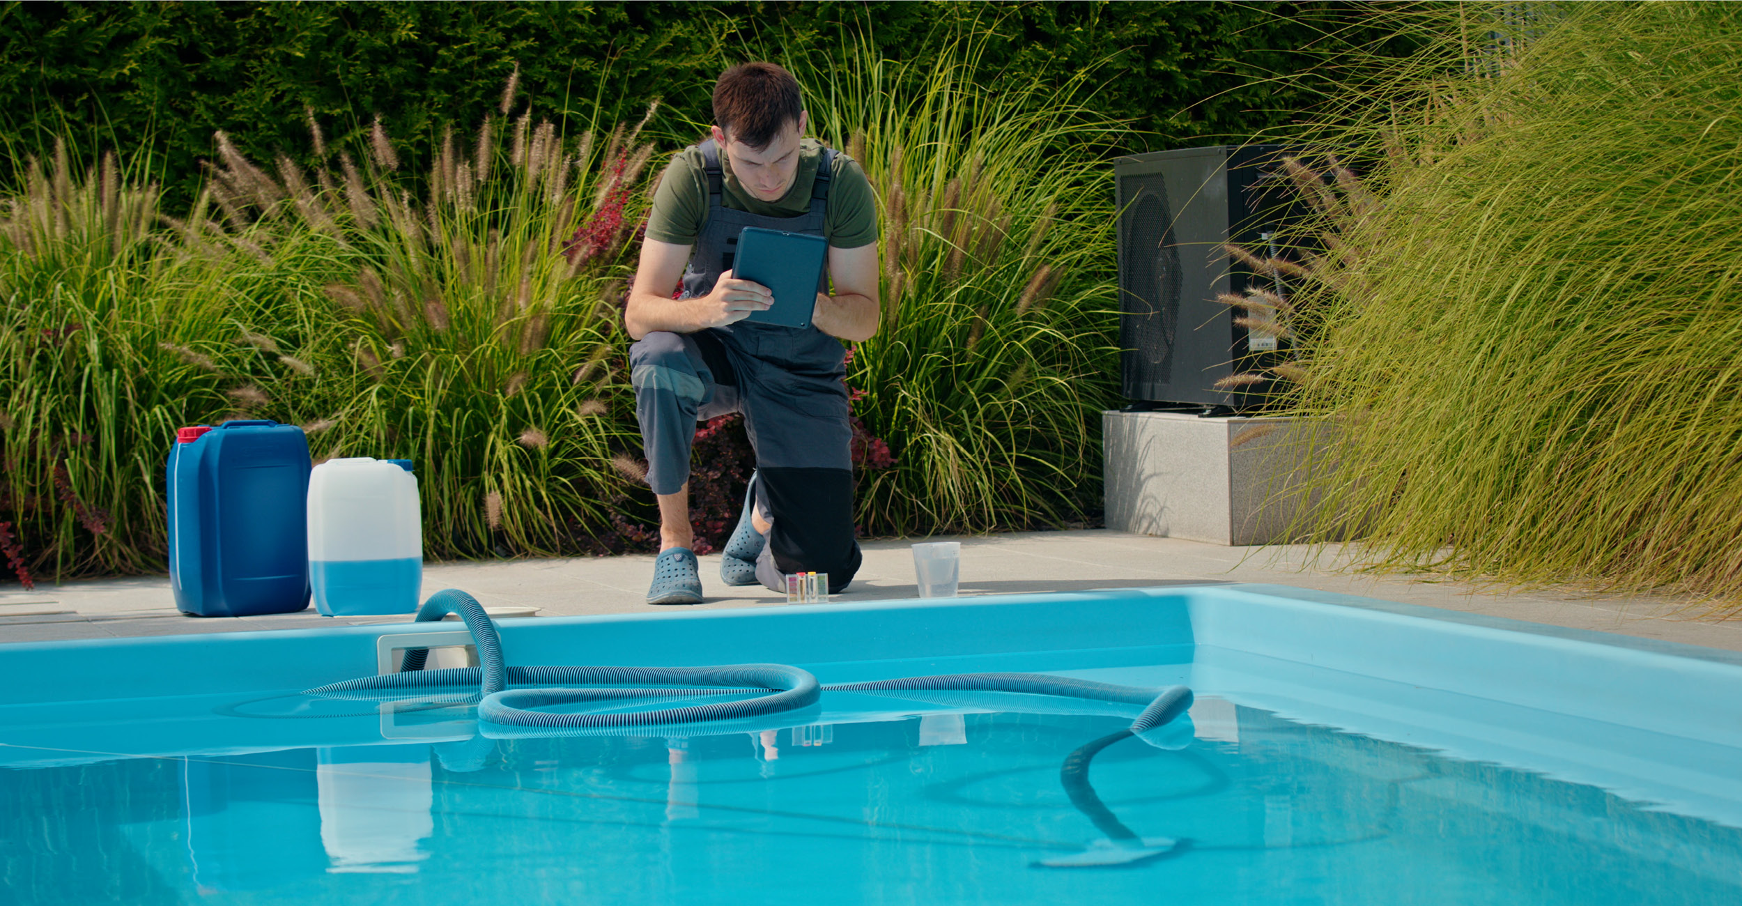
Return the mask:
<path id="1" fill-rule="evenodd" d="M 432 558 L 611 549 L 652 146 L 505 113 L 449 134 L 418 195 L 380 125 L 329 148 L 310 122 L 315 172 L 219 134 L 179 218 L 145 164 L 28 160 L 0 218 L 9 571 L 162 570 L 174 429 L 228 418 L 298 423 L 317 462 L 415 460 Z"/>

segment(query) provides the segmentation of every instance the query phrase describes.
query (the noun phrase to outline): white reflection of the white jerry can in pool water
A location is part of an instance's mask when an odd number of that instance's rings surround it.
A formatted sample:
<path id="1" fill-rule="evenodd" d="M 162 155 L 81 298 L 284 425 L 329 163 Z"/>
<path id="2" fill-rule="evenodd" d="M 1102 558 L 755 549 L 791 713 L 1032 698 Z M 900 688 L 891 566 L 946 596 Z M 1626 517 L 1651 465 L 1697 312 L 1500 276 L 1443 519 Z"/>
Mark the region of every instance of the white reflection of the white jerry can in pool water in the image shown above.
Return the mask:
<path id="1" fill-rule="evenodd" d="M 436 829 L 429 746 L 324 747 L 315 775 L 327 871 L 408 875 L 429 859 L 420 847 Z"/>

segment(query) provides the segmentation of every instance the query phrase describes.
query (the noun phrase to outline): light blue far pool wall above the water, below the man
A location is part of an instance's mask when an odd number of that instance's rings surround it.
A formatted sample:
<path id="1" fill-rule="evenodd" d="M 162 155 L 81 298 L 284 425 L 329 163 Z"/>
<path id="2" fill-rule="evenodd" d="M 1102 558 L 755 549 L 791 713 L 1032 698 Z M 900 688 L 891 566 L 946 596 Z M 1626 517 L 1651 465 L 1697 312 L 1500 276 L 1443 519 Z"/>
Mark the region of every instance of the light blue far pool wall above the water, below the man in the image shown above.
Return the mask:
<path id="1" fill-rule="evenodd" d="M 500 620 L 509 664 L 801 664 L 824 681 L 925 659 L 972 671 L 988 655 L 1131 648 L 1131 664 L 1190 662 L 1195 591 L 1104 591 L 657 615 Z M 0 706 L 310 688 L 376 673 L 383 634 L 456 622 L 334 625 L 0 646 Z M 1035 669 L 1049 669 L 1036 666 Z"/>

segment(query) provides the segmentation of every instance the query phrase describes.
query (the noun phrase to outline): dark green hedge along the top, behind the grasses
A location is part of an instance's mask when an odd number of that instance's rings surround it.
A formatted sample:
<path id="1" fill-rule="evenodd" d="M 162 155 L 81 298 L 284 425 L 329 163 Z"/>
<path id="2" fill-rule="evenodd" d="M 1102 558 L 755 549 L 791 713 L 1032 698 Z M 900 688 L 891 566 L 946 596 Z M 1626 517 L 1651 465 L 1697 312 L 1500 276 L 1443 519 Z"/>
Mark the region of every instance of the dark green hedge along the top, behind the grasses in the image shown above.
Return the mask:
<path id="1" fill-rule="evenodd" d="M 52 136 L 152 148 L 176 207 L 214 131 L 270 159 L 307 146 L 305 106 L 352 138 L 380 115 L 425 162 L 437 125 L 488 106 L 517 63 L 538 113 L 571 134 L 664 98 L 653 129 L 683 139 L 725 63 L 859 37 L 915 63 L 967 28 L 986 33 L 979 84 L 1063 84 L 1097 66 L 1094 106 L 1132 122 L 1143 146 L 1129 150 L 1150 150 L 1284 122 L 1313 99 L 1326 59 L 1380 35 L 1367 16 L 1357 3 L 7 3 L 0 141 L 14 157 Z"/>

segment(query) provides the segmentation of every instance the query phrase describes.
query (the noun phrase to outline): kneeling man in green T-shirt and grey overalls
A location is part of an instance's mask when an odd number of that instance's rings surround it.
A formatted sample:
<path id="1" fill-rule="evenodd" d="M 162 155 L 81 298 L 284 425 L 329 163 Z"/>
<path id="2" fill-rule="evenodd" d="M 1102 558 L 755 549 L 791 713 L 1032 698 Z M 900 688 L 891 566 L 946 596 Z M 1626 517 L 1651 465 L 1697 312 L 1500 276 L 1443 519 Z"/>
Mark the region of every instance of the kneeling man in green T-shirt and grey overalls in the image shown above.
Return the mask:
<path id="1" fill-rule="evenodd" d="M 807 120 L 789 71 L 733 66 L 714 84 L 712 138 L 678 153 L 653 193 L 624 314 L 660 510 L 650 605 L 702 601 L 690 444 L 699 420 L 733 411 L 744 413 L 756 474 L 719 578 L 784 592 L 787 573 L 815 571 L 838 592 L 859 570 L 840 340 L 868 340 L 880 321 L 876 202 L 857 162 L 805 138 Z M 732 275 L 744 226 L 829 240 L 834 293 L 817 293 L 810 326 L 744 321 L 773 301 L 768 287 Z"/>

